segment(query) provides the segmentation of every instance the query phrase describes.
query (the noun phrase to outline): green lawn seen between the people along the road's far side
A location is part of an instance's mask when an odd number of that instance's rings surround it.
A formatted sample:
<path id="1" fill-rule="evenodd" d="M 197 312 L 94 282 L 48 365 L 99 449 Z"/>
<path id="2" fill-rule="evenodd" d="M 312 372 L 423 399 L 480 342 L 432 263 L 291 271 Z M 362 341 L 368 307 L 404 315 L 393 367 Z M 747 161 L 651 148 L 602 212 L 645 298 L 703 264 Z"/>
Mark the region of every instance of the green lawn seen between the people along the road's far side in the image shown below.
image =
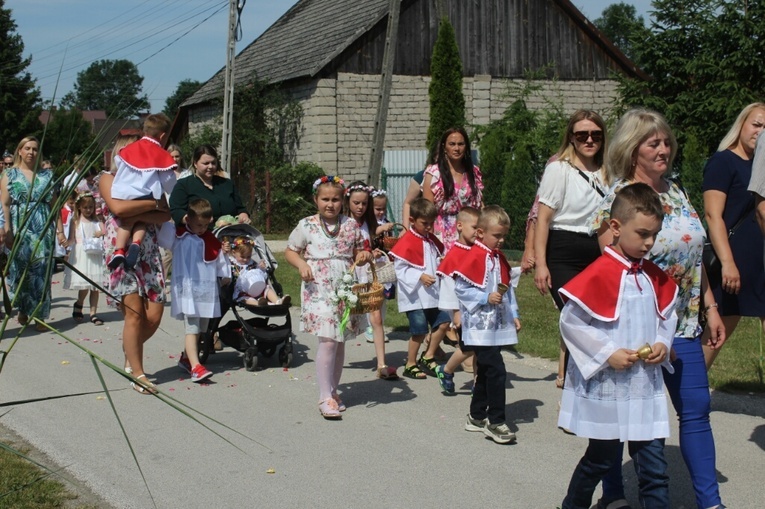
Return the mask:
<path id="1" fill-rule="evenodd" d="M 512 254 L 512 253 L 511 253 Z M 283 253 L 276 253 L 279 270 L 276 277 L 284 285 L 284 291 L 300 301 L 300 277 L 285 260 Z M 524 275 L 516 289 L 521 310 L 522 329 L 517 350 L 521 353 L 556 360 L 558 358 L 558 311 L 549 295 L 541 296 L 531 276 Z M 396 332 L 405 333 L 409 324 L 406 315 L 399 313 L 396 301 L 388 301 L 385 325 Z M 712 387 L 726 391 L 765 392 L 763 363 L 761 358 L 765 339 L 760 332 L 759 319 L 743 318 L 733 337 L 717 357 L 709 372 Z"/>

